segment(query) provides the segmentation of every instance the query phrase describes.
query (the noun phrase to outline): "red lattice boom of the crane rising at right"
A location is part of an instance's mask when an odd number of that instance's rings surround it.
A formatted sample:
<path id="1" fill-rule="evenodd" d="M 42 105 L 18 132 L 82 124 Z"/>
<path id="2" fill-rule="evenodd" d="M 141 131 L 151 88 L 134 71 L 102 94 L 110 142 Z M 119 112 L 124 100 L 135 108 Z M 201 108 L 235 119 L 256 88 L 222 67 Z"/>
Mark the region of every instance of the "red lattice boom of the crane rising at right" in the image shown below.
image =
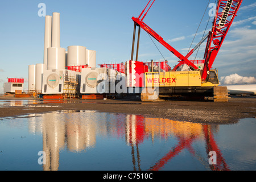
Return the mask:
<path id="1" fill-rule="evenodd" d="M 212 68 L 222 43 L 229 31 L 230 26 L 236 17 L 237 11 L 243 0 L 219 0 L 217 5 L 217 14 L 213 21 L 212 31 L 209 32 L 207 47 L 205 49 L 205 64 L 202 73 L 202 80 L 207 79 L 207 72 Z M 230 8 L 229 8 L 230 7 Z M 229 10 L 229 12 L 228 12 Z M 224 26 L 219 26 L 222 20 L 225 20 Z"/>

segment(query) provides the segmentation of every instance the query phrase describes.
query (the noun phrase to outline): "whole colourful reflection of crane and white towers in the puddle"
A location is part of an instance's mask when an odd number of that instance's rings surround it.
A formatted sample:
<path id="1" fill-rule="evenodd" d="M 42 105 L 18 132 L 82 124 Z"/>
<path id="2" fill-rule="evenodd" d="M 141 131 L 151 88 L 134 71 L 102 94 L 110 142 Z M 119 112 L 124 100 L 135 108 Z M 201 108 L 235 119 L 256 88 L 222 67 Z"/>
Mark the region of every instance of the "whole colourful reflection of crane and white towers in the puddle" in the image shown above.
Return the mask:
<path id="1" fill-rule="evenodd" d="M 131 147 L 131 159 L 134 170 L 142 170 L 139 147 L 145 140 L 151 143 L 155 139 L 174 139 L 174 146 L 166 152 L 148 170 L 161 170 L 170 163 L 181 151 L 187 149 L 196 156 L 192 143 L 201 140 L 205 143 L 205 156 L 210 151 L 217 152 L 217 164 L 207 164 L 212 170 L 228 170 L 222 158 L 212 131 L 218 130 L 218 125 L 171 121 L 170 119 L 147 118 L 142 115 L 97 113 L 95 111 L 62 111 L 42 114 L 41 122 L 38 117 L 30 119 L 30 130 L 38 132 L 42 129 L 43 151 L 46 152 L 44 170 L 58 170 L 61 150 L 67 148 L 71 152 L 83 152 L 96 147 L 96 136 L 101 138 L 116 138 L 124 140 Z M 41 125 L 40 127 L 38 125 Z M 118 146 L 117 146 L 118 147 Z M 150 151 L 148 151 L 150 152 Z M 117 159 L 118 160 L 118 159 Z M 208 162 L 208 159 L 204 159 Z M 130 165 L 130 164 L 127 164 Z M 106 166 L 107 167 L 107 166 Z M 121 169 L 122 170 L 122 169 Z M 145 169 L 143 169 L 145 170 Z"/>

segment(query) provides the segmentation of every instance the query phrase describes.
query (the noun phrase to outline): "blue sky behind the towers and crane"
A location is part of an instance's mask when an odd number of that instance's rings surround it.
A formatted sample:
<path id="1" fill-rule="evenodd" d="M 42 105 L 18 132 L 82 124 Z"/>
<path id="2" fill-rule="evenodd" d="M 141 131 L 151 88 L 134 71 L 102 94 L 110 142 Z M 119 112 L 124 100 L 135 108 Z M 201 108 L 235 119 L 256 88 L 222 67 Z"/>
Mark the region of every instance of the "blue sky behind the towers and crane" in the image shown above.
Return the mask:
<path id="1" fill-rule="evenodd" d="M 9 78 L 28 78 L 28 65 L 43 63 L 44 17 L 38 15 L 39 3 L 46 5 L 46 15 L 60 13 L 61 47 L 85 46 L 97 51 L 97 64 L 121 63 L 131 57 L 132 16 L 137 17 L 148 0 L 94 1 L 0 1 L 0 93 Z M 215 2 L 211 0 L 210 2 Z M 144 22 L 177 51 L 187 54 L 208 1 L 156 0 Z M 205 30 L 207 13 L 194 44 Z M 208 28 L 211 27 L 211 23 Z M 156 42 L 164 58 L 173 68 L 177 58 Z M 203 58 L 204 45 L 198 59 Z M 195 46 L 195 45 L 193 45 Z M 192 46 L 192 47 L 193 47 Z M 193 57 L 193 56 L 192 56 Z M 139 61 L 162 60 L 158 49 L 142 30 Z M 256 82 L 256 2 L 245 0 L 229 34 L 218 53 L 213 68 L 218 68 L 222 81 L 238 75 Z M 26 88 L 25 88 L 26 89 Z"/>

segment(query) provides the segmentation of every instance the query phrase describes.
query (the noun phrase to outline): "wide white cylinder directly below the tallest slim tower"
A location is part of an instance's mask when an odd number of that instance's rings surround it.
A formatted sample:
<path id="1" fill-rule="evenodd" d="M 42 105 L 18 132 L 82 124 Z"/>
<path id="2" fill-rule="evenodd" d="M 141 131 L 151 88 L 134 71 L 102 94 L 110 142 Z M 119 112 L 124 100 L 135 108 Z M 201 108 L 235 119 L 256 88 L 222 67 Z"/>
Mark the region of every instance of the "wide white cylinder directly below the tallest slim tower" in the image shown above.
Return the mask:
<path id="1" fill-rule="evenodd" d="M 49 47 L 47 49 L 47 69 L 65 69 L 65 48 Z"/>

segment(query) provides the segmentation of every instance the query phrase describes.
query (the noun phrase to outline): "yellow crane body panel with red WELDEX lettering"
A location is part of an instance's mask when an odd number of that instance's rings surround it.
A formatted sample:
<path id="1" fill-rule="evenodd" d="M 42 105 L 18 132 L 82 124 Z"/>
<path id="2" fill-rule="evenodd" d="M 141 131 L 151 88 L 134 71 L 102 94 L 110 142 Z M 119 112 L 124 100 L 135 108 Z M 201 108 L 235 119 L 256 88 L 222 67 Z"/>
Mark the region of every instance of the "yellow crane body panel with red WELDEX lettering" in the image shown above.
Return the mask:
<path id="1" fill-rule="evenodd" d="M 146 87 L 201 86 L 200 71 L 145 73 Z"/>

